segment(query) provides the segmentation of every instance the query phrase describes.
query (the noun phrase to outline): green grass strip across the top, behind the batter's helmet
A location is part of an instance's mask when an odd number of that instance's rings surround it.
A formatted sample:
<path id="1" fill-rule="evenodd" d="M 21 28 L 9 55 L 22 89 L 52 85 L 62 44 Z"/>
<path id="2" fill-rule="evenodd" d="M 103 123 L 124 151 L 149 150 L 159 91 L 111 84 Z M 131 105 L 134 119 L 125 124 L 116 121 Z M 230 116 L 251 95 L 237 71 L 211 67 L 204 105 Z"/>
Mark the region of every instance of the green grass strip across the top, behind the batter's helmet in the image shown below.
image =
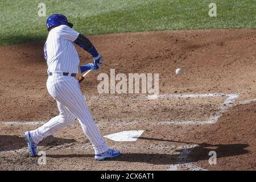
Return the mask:
<path id="1" fill-rule="evenodd" d="M 46 4 L 46 17 L 37 7 Z M 209 17 L 209 3 L 217 17 Z M 64 14 L 84 35 L 151 30 L 255 28 L 255 0 L 0 0 L 0 45 L 44 40 L 46 19 Z"/>

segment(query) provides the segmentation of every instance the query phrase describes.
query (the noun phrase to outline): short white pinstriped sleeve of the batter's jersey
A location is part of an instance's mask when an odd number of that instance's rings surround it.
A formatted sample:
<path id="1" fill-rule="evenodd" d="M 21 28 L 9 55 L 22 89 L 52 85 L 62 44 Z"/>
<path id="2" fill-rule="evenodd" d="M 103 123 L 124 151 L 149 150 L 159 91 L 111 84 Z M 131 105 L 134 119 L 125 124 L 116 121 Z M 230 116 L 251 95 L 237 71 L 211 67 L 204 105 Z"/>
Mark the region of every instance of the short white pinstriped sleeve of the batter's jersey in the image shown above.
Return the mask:
<path id="1" fill-rule="evenodd" d="M 79 32 L 73 30 L 67 25 L 59 26 L 59 28 L 57 28 L 56 34 L 63 39 L 70 40 L 71 42 L 74 42 L 79 36 Z"/>

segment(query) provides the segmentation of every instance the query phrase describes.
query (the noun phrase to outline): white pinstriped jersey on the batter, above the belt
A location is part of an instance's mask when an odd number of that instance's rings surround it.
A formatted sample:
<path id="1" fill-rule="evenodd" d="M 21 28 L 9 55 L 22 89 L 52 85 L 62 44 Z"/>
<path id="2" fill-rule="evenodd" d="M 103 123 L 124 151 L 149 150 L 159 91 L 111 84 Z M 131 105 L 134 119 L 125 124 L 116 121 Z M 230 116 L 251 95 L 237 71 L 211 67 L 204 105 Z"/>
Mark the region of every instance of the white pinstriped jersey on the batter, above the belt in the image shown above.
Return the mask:
<path id="1" fill-rule="evenodd" d="M 44 44 L 44 58 L 47 60 L 47 72 L 79 72 L 79 55 L 74 41 L 79 32 L 69 26 L 61 25 L 49 31 Z"/>

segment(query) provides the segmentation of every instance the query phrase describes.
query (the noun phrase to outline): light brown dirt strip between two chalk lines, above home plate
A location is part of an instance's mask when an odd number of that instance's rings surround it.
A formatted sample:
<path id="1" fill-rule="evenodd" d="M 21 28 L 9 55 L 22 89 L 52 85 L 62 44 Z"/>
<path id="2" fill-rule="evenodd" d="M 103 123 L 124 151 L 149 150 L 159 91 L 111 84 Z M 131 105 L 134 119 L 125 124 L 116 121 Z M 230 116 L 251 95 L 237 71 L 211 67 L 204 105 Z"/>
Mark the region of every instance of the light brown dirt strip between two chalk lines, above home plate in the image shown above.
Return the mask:
<path id="1" fill-rule="evenodd" d="M 107 103 L 110 102 L 111 105 Z M 96 121 L 207 121 L 220 110 L 222 97 L 213 98 L 89 98 L 88 106 L 101 108 L 104 115 L 95 115 Z M 189 106 L 189 107 L 188 107 Z M 122 108 L 117 112 L 118 108 Z M 100 118 L 101 117 L 101 118 Z"/>

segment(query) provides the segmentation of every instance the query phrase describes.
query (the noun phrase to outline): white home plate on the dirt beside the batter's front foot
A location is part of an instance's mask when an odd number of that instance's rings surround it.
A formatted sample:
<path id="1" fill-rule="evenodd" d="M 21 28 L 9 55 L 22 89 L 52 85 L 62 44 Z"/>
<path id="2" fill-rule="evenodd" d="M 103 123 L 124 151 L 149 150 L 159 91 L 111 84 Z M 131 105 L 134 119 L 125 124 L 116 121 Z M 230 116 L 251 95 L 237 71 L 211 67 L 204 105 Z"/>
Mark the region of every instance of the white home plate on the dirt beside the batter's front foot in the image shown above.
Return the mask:
<path id="1" fill-rule="evenodd" d="M 139 137 L 141 137 L 144 130 L 126 130 L 118 133 L 110 134 L 104 136 L 115 142 L 135 142 Z"/>

